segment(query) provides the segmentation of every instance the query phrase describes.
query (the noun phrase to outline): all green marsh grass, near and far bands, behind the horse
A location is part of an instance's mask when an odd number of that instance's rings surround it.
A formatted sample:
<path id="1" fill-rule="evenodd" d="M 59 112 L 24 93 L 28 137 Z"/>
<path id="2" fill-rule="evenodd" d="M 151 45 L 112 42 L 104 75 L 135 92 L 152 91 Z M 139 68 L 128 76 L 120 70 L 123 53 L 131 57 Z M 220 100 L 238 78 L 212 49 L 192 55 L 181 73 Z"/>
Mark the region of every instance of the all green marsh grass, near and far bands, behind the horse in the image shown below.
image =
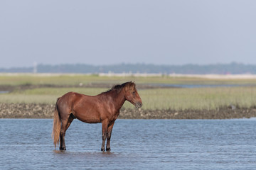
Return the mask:
<path id="1" fill-rule="evenodd" d="M 135 81 L 137 84 L 255 84 L 249 80 L 218 80 L 193 79 L 172 77 L 98 77 L 97 75 L 20 75 L 0 76 L 0 85 L 19 86 L 23 84 L 90 84 Z M 49 103 L 54 104 L 56 98 L 68 91 L 75 91 L 87 95 L 97 95 L 110 88 L 36 88 L 15 90 L 9 94 L 0 94 L 1 103 Z M 139 95 L 143 101 L 142 109 L 218 109 L 231 105 L 240 107 L 256 106 L 256 86 L 244 87 L 216 87 L 194 89 L 141 89 Z M 124 108 L 134 108 L 132 104 L 124 103 Z"/>

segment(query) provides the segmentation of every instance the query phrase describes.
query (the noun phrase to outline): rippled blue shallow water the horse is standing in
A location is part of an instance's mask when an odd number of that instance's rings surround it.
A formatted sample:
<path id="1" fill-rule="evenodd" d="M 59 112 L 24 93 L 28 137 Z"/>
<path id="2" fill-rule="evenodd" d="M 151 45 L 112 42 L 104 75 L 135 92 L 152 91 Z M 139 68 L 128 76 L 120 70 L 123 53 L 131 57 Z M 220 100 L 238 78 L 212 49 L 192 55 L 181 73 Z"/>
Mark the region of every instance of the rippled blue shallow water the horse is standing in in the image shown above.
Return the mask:
<path id="1" fill-rule="evenodd" d="M 1 119 L 0 169 L 255 169 L 255 128 L 255 118 L 117 120 L 101 152 L 101 124 L 74 120 L 60 152 L 52 120 Z"/>

